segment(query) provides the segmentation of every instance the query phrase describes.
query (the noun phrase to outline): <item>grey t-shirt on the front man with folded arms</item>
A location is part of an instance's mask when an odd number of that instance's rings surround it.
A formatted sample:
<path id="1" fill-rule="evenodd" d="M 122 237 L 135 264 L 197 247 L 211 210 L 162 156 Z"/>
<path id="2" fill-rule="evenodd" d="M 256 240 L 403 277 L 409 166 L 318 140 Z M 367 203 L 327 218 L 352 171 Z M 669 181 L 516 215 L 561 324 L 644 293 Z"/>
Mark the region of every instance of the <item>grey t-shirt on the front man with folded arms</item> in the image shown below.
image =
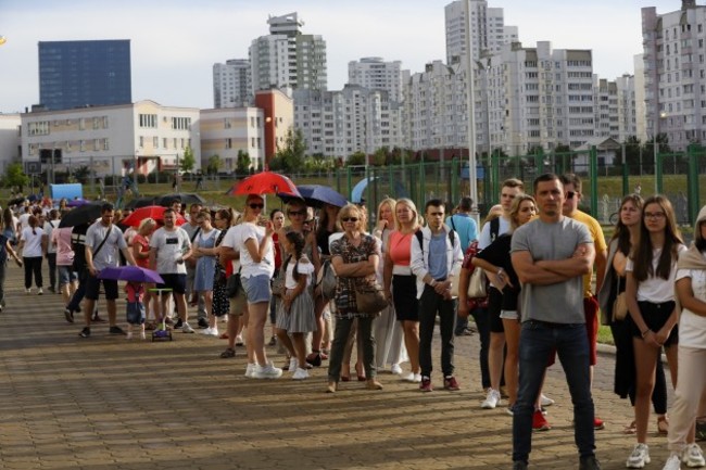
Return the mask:
<path id="1" fill-rule="evenodd" d="M 529 251 L 535 262 L 568 259 L 583 243 L 593 244 L 585 225 L 568 217 L 555 224 L 535 219 L 515 230 L 510 253 Z M 522 321 L 585 322 L 582 276 L 556 284 L 522 284 L 520 302 Z"/>

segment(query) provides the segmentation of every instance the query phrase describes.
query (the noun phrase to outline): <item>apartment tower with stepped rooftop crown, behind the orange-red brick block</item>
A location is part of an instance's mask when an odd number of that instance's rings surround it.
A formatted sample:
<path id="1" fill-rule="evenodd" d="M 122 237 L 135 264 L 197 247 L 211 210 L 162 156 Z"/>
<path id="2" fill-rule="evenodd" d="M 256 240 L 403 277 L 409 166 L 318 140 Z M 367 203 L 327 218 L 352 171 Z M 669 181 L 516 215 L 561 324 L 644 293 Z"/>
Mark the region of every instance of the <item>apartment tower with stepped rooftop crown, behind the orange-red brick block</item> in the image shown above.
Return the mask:
<path id="1" fill-rule="evenodd" d="M 270 16 L 269 35 L 250 46 L 252 89 L 303 88 L 325 90 L 328 82 L 326 41 L 322 36 L 304 35 L 304 22 L 297 13 Z"/>

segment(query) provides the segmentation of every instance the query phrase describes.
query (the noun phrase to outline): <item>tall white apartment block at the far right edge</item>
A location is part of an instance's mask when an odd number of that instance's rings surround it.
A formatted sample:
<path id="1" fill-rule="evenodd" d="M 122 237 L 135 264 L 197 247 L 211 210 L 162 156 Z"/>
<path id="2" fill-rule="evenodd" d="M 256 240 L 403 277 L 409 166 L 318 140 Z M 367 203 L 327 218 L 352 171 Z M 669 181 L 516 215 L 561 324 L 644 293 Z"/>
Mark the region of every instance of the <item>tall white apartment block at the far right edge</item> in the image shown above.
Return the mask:
<path id="1" fill-rule="evenodd" d="M 666 134 L 684 150 L 706 141 L 706 7 L 682 0 L 681 10 L 642 9 L 646 134 Z"/>

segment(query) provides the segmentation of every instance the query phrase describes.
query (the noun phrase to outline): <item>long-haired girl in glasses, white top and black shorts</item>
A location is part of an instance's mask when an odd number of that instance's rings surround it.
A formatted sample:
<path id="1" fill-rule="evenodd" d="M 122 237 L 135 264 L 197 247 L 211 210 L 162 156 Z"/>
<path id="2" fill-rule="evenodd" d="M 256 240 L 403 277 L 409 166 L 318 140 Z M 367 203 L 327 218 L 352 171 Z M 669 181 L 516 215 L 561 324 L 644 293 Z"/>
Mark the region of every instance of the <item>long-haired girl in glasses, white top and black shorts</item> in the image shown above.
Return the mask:
<path id="1" fill-rule="evenodd" d="M 628 468 L 643 468 L 650 461 L 647 420 L 654 390 L 655 369 L 664 346 L 677 384 L 679 334 L 675 326 L 679 309 L 675 303 L 675 278 L 679 252 L 685 251 L 677 228 L 675 211 L 664 195 L 645 200 L 640 237 L 626 264 L 626 302 L 635 358 L 635 444 L 626 462 Z"/>

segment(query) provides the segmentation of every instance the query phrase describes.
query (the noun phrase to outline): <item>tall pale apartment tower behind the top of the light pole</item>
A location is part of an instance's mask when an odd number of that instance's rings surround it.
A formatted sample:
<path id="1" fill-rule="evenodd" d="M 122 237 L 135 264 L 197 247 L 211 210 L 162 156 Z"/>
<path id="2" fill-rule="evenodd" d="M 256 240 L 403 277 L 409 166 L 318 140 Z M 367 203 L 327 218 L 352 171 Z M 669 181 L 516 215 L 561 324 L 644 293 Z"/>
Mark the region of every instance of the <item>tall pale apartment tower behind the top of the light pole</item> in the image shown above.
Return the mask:
<path id="1" fill-rule="evenodd" d="M 470 20 L 466 21 L 466 4 Z M 487 0 L 456 0 L 445 7 L 446 63 L 465 61 L 466 33 L 470 29 L 471 59 L 496 54 L 503 45 L 518 40 L 517 26 L 505 26 L 502 8 L 489 8 Z"/>

